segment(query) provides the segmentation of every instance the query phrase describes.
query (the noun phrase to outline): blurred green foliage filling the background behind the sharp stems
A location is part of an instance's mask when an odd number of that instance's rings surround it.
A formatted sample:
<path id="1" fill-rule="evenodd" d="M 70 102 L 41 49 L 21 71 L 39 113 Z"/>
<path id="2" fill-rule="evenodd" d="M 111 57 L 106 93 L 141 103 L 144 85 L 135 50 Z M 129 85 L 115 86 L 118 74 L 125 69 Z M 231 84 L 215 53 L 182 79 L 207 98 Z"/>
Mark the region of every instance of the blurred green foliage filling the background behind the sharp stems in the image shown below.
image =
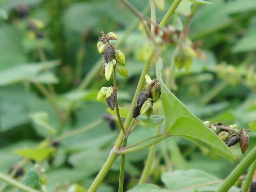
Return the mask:
<path id="1" fill-rule="evenodd" d="M 129 2 L 150 17 L 148 0 Z M 156 9 L 158 21 L 172 0 L 165 3 L 164 10 Z M 189 32 L 203 56 L 194 59 L 189 70 L 176 70 L 172 92 L 203 121 L 238 124 L 244 129 L 251 123 L 250 150 L 256 143 L 256 3 L 212 3 L 200 5 Z M 175 17 L 183 22 L 191 5 L 183 0 Z M 176 28 L 180 25 L 174 23 Z M 100 120 L 107 105 L 96 102 L 100 88 L 112 85 L 97 67 L 103 61 L 96 46 L 101 31 L 113 31 L 118 42 L 123 41 L 117 46 L 126 56 L 129 75 L 118 76 L 118 92 L 120 106 L 129 108 L 143 58 L 148 57 L 148 39 L 124 4 L 118 0 L 0 1 L 1 172 L 7 174 L 23 156 L 33 159 L 26 162 L 24 171 L 34 167 L 40 172 L 47 191 L 66 191 L 74 183 L 90 186 L 119 133 L 119 127 L 112 124 L 111 128 Z M 161 49 L 168 73 L 174 46 L 167 43 Z M 155 77 L 154 66 L 149 74 Z M 86 132 L 58 136 L 95 122 Z M 153 132 L 154 128 L 142 124 L 128 144 L 151 137 Z M 172 145 L 173 139 L 178 146 Z M 163 141 L 171 154 L 172 170 L 198 169 L 224 179 L 244 157 L 236 145 L 231 149 L 237 161 L 230 164 L 188 140 L 173 139 Z M 58 148 L 53 140 L 59 141 Z M 127 155 L 125 189 L 137 184 L 147 153 L 145 149 Z M 118 157 L 98 191 L 116 191 L 119 165 Z M 149 181 L 163 185 L 161 174 L 167 171 L 170 167 L 164 163 L 159 144 Z M 5 189 L 12 190 L 10 186 Z"/>

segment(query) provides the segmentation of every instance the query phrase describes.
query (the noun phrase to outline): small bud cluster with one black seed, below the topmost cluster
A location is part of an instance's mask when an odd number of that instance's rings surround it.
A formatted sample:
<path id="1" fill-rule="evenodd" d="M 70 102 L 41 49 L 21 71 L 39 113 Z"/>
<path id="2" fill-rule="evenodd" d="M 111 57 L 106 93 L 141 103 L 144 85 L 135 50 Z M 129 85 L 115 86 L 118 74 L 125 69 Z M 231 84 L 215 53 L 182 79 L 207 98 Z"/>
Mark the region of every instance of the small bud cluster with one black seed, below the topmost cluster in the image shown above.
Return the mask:
<path id="1" fill-rule="evenodd" d="M 115 87 L 102 87 L 101 90 L 98 92 L 96 100 L 100 101 L 106 98 L 108 107 L 111 108 L 111 110 L 114 110 L 116 106 L 116 92 L 117 88 Z"/>

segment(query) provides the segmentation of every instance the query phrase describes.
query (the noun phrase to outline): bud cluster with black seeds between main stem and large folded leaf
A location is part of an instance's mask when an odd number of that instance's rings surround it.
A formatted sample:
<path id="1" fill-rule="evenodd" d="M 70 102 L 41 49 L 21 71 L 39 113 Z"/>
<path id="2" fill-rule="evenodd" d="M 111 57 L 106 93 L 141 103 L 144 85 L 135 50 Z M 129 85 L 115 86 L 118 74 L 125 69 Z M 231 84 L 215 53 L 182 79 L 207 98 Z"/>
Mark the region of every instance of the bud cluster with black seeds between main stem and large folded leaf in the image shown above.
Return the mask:
<path id="1" fill-rule="evenodd" d="M 158 80 L 152 80 L 148 75 L 146 75 L 145 78 L 147 91 L 139 93 L 136 105 L 133 108 L 133 118 L 142 114 L 145 114 L 149 118 L 153 112 L 153 102 L 156 102 L 161 95 L 161 88 Z"/>

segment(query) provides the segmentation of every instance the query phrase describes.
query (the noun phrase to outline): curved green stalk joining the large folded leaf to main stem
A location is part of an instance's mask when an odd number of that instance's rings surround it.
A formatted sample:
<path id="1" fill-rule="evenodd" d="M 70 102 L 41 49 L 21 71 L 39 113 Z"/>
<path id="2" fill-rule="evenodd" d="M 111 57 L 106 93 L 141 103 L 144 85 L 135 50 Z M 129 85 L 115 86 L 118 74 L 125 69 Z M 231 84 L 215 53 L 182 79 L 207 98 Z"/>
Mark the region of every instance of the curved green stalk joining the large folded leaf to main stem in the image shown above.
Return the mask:
<path id="1" fill-rule="evenodd" d="M 127 148 L 127 149 L 119 149 L 116 150 L 117 155 L 125 155 L 128 153 L 133 153 L 136 151 L 140 151 L 142 149 L 148 148 L 152 145 L 155 145 L 156 143 L 159 143 L 160 141 L 166 139 L 167 137 L 170 137 L 171 135 L 166 135 L 166 134 L 162 134 L 160 137 L 157 137 L 156 139 L 149 141 L 148 143 L 142 144 L 142 145 L 138 145 L 136 147 L 131 147 L 131 148 Z"/>

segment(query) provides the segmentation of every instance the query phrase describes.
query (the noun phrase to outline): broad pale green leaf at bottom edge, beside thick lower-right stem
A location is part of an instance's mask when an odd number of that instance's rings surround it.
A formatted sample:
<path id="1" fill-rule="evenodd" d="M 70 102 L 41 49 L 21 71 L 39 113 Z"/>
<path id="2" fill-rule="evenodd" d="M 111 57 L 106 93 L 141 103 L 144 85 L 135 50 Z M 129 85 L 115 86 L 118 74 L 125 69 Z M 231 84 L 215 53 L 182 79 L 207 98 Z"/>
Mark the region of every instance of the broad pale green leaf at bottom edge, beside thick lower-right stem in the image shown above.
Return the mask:
<path id="1" fill-rule="evenodd" d="M 164 173 L 161 180 L 170 191 L 194 192 L 196 189 L 201 192 L 216 191 L 222 181 L 201 170 L 174 171 Z M 216 182 L 214 184 L 210 184 Z M 209 184 L 208 184 L 209 183 Z M 204 185 L 204 186 L 200 186 Z M 233 187 L 232 192 L 238 192 L 239 189 Z"/>

